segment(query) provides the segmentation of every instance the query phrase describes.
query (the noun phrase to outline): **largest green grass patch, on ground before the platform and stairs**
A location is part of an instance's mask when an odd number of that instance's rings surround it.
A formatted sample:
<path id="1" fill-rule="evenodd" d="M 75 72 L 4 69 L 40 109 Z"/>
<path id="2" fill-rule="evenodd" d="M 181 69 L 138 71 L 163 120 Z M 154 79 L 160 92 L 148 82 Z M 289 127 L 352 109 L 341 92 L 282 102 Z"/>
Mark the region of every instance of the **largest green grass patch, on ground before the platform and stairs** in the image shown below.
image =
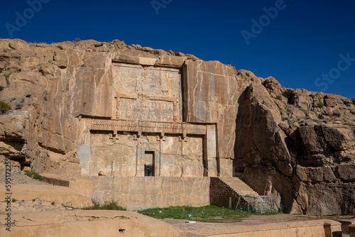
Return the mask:
<path id="1" fill-rule="evenodd" d="M 190 219 L 202 222 L 236 222 L 242 221 L 248 216 L 256 213 L 243 211 L 241 209 L 228 209 L 219 206 L 170 206 L 167 208 L 153 208 L 138 211 L 138 213 L 151 216 L 156 219 Z M 276 214 L 276 213 L 265 213 Z"/>

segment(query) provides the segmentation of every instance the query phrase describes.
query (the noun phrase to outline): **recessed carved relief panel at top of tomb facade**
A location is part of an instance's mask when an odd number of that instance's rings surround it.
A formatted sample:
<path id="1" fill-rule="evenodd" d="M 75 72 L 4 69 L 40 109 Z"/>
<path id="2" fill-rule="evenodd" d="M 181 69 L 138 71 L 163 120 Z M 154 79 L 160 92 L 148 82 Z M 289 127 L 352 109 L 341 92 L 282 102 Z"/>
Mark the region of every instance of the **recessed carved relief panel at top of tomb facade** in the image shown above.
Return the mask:
<path id="1" fill-rule="evenodd" d="M 180 122 L 180 70 L 114 64 L 114 119 Z"/>

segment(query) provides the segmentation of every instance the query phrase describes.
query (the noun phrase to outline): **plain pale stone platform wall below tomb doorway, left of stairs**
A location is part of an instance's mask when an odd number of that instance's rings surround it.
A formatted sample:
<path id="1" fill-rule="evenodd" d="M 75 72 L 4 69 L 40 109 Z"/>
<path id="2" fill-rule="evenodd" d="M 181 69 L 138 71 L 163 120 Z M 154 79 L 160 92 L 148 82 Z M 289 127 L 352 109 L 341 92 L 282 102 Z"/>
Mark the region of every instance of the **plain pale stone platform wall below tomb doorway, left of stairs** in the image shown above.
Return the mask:
<path id="1" fill-rule="evenodd" d="M 115 201 L 128 210 L 209 205 L 209 177 L 85 178 L 95 183 L 93 198 L 99 203 Z"/>

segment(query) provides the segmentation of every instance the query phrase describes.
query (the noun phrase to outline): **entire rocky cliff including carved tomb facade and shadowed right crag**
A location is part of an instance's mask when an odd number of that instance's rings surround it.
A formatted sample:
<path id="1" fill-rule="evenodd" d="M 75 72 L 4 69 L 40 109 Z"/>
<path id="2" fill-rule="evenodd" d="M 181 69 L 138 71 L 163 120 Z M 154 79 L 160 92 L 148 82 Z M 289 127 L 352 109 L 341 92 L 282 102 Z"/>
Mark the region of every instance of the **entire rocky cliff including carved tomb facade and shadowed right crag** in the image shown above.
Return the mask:
<path id="1" fill-rule="evenodd" d="M 116 72 L 122 64 L 134 70 Z M 120 73 L 126 81 L 117 79 Z M 119 40 L 0 39 L 0 86 L 0 101 L 12 108 L 0 116 L 0 155 L 21 170 L 139 176 L 144 164 L 137 160 L 150 150 L 165 158 L 155 171 L 161 176 L 231 176 L 233 162 L 234 175 L 259 194 L 277 195 L 286 212 L 355 212 L 354 99 L 285 89 L 273 77 Z M 150 122 L 142 124 L 129 109 L 120 112 L 117 98 L 136 100 Z M 149 106 L 163 115 L 146 111 Z M 127 113 L 137 119 L 124 121 Z M 100 121 L 119 116 L 119 126 L 131 133 L 103 133 L 111 123 Z M 165 123 L 173 126 L 161 130 Z M 142 138 L 143 127 L 156 134 Z M 153 159 L 157 165 L 160 156 Z"/>

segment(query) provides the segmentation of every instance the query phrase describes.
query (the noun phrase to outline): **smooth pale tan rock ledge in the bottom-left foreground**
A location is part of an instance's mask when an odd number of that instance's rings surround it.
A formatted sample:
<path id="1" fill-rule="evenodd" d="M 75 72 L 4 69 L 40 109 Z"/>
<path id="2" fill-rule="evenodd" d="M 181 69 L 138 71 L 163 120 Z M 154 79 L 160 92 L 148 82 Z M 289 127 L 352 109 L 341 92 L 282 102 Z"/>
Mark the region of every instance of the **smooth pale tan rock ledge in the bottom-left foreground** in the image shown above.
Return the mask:
<path id="1" fill-rule="evenodd" d="M 11 232 L 1 236 L 187 236 L 163 221 L 130 211 L 46 211 L 12 216 Z M 5 226 L 5 216 L 1 224 Z"/>

